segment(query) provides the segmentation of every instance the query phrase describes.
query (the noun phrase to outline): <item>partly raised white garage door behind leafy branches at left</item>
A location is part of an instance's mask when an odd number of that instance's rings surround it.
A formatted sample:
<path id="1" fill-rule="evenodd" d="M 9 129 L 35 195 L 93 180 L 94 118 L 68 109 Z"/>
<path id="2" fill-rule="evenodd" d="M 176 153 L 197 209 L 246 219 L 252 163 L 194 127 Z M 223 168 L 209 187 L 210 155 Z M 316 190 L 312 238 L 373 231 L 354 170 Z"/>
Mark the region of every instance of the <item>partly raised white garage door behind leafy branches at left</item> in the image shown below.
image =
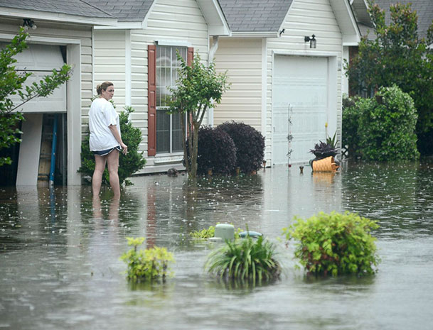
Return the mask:
<path id="1" fill-rule="evenodd" d="M 6 44 L 0 43 L 0 48 L 3 48 L 4 45 Z M 15 70 L 32 74 L 27 78 L 26 85 L 39 82 L 44 76 L 50 75 L 53 69 L 58 70 L 63 65 L 60 46 L 56 45 L 29 44 L 28 48 L 14 58 L 17 60 L 14 64 Z M 62 84 L 48 97 L 33 99 L 18 110 L 24 113 L 66 112 L 66 90 L 66 84 Z M 11 97 L 11 99 L 18 104 L 18 97 Z"/>

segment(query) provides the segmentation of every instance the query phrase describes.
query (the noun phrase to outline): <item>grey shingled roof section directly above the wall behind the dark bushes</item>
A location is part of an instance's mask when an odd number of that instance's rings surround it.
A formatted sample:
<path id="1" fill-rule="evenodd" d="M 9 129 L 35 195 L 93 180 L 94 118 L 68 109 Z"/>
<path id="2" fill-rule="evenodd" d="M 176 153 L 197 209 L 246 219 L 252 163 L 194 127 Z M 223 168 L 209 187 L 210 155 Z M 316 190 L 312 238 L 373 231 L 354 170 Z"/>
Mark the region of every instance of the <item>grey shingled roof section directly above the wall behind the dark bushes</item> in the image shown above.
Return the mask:
<path id="1" fill-rule="evenodd" d="M 233 32 L 274 32 L 292 0 L 218 0 Z"/>

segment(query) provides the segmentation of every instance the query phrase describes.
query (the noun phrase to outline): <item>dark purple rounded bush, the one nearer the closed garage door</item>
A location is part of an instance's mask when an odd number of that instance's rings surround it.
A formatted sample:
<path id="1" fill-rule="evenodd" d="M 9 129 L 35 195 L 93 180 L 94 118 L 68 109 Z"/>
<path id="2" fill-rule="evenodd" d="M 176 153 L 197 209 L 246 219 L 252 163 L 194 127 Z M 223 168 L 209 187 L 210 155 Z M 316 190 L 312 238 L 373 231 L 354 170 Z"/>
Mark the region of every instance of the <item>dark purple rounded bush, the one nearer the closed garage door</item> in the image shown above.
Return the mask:
<path id="1" fill-rule="evenodd" d="M 250 174 L 260 170 L 264 157 L 264 137 L 254 127 L 235 121 L 218 126 L 233 139 L 236 145 L 236 166 L 240 171 Z"/>

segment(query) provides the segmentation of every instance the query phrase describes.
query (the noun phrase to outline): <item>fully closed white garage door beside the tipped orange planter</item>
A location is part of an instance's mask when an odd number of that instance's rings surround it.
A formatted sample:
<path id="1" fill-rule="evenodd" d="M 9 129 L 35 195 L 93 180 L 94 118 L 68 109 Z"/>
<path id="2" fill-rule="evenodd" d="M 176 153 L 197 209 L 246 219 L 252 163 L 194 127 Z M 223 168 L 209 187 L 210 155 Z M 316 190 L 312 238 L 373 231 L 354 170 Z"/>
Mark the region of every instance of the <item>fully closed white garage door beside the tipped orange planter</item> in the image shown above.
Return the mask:
<path id="1" fill-rule="evenodd" d="M 289 148 L 290 163 L 306 163 L 314 158 L 309 150 L 325 139 L 328 58 L 276 55 L 272 88 L 272 163 L 287 164 Z"/>

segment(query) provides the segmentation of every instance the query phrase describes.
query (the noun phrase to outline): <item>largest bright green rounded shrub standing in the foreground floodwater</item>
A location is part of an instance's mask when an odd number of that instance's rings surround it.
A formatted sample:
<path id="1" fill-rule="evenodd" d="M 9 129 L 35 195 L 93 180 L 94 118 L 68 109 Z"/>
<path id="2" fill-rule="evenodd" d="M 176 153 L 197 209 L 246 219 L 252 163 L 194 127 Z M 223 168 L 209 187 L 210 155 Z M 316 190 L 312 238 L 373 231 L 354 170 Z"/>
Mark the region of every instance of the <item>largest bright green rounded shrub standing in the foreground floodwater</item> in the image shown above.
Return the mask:
<path id="1" fill-rule="evenodd" d="M 295 258 L 308 275 L 367 275 L 377 270 L 380 259 L 370 231 L 378 229 L 376 221 L 358 214 L 320 212 L 283 229 L 287 240 L 298 241 Z"/>

